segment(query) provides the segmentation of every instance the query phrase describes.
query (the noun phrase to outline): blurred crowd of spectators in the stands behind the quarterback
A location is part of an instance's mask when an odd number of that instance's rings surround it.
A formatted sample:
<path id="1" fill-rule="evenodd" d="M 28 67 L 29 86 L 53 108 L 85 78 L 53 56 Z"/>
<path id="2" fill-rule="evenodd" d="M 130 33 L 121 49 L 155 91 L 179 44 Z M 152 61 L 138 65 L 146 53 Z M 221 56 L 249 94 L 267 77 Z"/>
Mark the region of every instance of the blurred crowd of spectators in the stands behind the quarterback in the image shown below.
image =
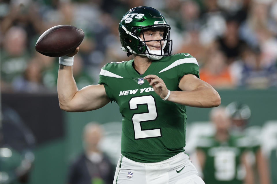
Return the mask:
<path id="1" fill-rule="evenodd" d="M 132 7 L 158 9 L 171 26 L 174 53 L 190 53 L 213 87 L 277 87 L 275 0 L 0 0 L 1 91 L 55 93 L 58 58 L 35 51 L 40 35 L 60 24 L 81 28 L 74 57 L 78 88 L 97 84 L 121 51 L 118 24 Z"/>

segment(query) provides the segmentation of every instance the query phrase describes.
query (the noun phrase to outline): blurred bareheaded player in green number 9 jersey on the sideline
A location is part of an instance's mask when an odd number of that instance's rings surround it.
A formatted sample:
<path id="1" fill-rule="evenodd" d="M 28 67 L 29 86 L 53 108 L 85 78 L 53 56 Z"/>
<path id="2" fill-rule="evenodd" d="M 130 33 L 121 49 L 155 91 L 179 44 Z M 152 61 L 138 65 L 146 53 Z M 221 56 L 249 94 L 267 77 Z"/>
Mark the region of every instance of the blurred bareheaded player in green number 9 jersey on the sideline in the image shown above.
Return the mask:
<path id="1" fill-rule="evenodd" d="M 206 184 L 253 184 L 244 137 L 230 134 L 231 119 L 224 107 L 214 108 L 210 119 L 215 133 L 199 139 L 196 155 Z"/>

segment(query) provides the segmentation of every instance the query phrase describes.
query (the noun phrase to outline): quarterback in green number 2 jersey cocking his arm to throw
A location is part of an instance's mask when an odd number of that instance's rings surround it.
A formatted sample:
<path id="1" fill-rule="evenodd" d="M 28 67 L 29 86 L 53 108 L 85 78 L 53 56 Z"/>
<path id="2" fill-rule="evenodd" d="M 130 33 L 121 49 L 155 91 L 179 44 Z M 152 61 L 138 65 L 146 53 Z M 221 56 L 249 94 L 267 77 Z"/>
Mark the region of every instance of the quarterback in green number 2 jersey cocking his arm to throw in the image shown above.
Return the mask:
<path id="1" fill-rule="evenodd" d="M 69 112 L 119 105 L 121 157 L 114 184 L 203 184 L 184 153 L 186 106 L 210 108 L 220 96 L 199 79 L 189 53 L 171 55 L 170 26 L 151 7 L 130 9 L 119 23 L 121 48 L 134 59 L 107 63 L 98 85 L 76 87 L 72 65 L 79 48 L 60 57 L 58 96 Z"/>

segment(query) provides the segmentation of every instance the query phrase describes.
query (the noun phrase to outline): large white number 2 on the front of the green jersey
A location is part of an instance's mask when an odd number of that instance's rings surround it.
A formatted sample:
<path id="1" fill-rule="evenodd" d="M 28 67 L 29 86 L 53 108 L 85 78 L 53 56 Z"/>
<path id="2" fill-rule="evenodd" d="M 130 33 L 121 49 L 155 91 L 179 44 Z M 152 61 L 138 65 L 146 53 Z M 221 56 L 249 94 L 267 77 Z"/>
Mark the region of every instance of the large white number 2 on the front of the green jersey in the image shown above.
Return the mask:
<path id="1" fill-rule="evenodd" d="M 145 139 L 150 137 L 161 137 L 161 129 L 141 129 L 142 122 L 149 122 L 156 120 L 157 108 L 155 99 L 152 95 L 132 97 L 129 101 L 130 110 L 138 109 L 138 105 L 147 105 L 147 112 L 135 113 L 132 116 L 134 125 L 135 139 Z"/>

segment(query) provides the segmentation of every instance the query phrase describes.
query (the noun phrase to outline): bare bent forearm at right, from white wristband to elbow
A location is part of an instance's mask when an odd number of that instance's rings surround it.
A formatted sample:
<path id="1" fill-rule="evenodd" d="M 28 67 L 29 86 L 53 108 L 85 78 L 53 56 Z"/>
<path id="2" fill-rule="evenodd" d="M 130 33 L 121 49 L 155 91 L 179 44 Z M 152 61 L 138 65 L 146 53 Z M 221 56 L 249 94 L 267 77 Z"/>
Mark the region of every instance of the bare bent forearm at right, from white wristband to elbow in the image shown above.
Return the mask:
<path id="1" fill-rule="evenodd" d="M 200 87 L 193 91 L 171 91 L 168 101 L 186 106 L 210 108 L 220 105 L 220 96 L 213 88 Z"/>

